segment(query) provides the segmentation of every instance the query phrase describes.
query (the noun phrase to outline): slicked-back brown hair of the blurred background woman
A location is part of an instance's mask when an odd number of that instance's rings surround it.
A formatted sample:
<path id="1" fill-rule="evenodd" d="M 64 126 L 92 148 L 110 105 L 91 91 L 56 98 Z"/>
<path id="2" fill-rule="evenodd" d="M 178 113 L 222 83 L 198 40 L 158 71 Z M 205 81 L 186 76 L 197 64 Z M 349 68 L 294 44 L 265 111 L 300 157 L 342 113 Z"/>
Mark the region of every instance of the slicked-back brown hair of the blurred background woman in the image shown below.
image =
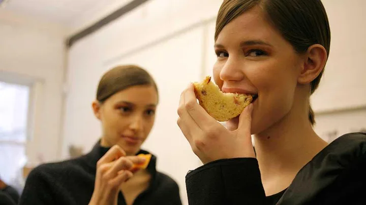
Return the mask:
<path id="1" fill-rule="evenodd" d="M 108 70 L 100 79 L 97 100 L 104 103 L 119 91 L 142 85 L 154 86 L 159 95 L 155 80 L 146 70 L 137 65 L 119 65 Z"/>

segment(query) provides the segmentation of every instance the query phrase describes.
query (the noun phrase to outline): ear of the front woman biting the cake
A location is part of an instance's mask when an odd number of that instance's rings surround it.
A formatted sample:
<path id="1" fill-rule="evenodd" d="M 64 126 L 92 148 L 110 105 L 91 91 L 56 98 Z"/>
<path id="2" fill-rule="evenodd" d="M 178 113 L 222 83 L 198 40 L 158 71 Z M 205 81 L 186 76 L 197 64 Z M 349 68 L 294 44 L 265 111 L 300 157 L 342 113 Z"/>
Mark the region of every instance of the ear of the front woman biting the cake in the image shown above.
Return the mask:
<path id="1" fill-rule="evenodd" d="M 309 84 L 318 77 L 327 61 L 327 52 L 323 46 L 315 44 L 309 47 L 304 57 L 302 70 L 297 78 L 299 84 Z"/>

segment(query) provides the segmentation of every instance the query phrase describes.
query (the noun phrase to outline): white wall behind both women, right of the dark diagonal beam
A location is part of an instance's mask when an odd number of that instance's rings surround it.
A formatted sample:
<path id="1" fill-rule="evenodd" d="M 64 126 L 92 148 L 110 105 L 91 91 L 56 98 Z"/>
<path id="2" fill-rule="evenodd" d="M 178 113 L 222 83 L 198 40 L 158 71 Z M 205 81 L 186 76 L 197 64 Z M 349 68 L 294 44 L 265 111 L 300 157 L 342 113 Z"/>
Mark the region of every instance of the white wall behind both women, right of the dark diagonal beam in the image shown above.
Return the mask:
<path id="1" fill-rule="evenodd" d="M 366 95 L 361 95 L 366 88 L 361 58 L 366 52 L 362 38 L 366 30 L 360 28 L 366 17 L 360 8 L 366 2 L 323 2 L 331 24 L 332 47 L 324 81 L 313 97 L 314 109 L 366 104 Z M 184 177 L 200 162 L 176 126 L 176 108 L 189 81 L 211 74 L 216 59 L 215 16 L 221 3 L 151 0 L 77 42 L 69 51 L 63 157 L 67 157 L 68 145 L 81 145 L 88 151 L 100 137 L 90 103 L 102 73 L 116 64 L 139 64 L 157 79 L 161 95 L 156 125 L 144 147 L 158 155 L 158 169 L 178 181 L 187 204 Z"/>

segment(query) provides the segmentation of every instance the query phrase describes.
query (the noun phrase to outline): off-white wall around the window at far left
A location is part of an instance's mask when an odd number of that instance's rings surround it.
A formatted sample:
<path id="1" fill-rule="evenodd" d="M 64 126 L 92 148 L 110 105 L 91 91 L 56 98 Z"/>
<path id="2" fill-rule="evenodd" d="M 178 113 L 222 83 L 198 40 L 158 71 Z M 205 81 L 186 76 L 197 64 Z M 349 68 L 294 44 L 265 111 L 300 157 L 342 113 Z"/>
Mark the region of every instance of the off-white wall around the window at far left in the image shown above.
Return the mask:
<path id="1" fill-rule="evenodd" d="M 66 32 L 52 24 L 2 11 L 0 33 L 0 77 L 6 80 L 19 75 L 20 80 L 36 82 L 33 138 L 26 145 L 28 162 L 37 165 L 40 159 L 56 160 L 60 151 Z"/>

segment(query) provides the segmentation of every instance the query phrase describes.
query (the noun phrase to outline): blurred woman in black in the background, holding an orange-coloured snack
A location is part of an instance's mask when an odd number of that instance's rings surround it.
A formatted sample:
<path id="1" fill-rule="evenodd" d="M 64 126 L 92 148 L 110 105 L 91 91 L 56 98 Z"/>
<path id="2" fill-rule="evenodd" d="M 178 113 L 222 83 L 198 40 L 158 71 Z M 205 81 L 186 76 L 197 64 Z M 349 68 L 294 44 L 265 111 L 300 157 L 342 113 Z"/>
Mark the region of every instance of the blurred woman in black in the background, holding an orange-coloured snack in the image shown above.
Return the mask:
<path id="1" fill-rule="evenodd" d="M 106 72 L 93 102 L 102 137 L 81 157 L 41 165 L 28 176 L 20 204 L 181 204 L 177 183 L 156 170 L 156 156 L 146 169 L 141 145 L 155 122 L 158 88 L 144 69 L 117 66 Z"/>

